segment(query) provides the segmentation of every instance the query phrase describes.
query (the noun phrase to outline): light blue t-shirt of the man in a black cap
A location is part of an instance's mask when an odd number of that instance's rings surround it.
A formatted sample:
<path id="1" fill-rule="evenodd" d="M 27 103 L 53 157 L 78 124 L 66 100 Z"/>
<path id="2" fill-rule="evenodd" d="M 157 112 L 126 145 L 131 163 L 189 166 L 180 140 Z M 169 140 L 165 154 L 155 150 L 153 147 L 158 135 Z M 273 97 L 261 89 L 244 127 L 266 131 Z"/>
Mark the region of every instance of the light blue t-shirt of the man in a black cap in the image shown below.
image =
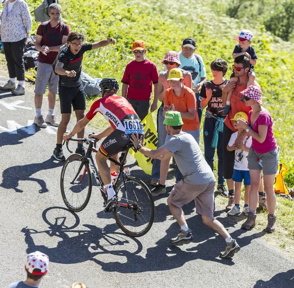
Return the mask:
<path id="1" fill-rule="evenodd" d="M 201 58 L 201 56 L 197 54 L 197 58 L 201 65 L 201 69 L 200 69 L 195 53 L 193 54 L 192 58 L 185 58 L 182 55 L 182 52 L 179 52 L 179 56 L 180 56 L 180 61 L 182 64 L 181 66 L 179 66 L 179 68 L 191 73 L 192 80 L 194 81 L 193 88 L 195 88 L 195 86 L 200 82 L 200 78 L 206 77 L 206 70 L 205 70 L 203 59 Z"/>

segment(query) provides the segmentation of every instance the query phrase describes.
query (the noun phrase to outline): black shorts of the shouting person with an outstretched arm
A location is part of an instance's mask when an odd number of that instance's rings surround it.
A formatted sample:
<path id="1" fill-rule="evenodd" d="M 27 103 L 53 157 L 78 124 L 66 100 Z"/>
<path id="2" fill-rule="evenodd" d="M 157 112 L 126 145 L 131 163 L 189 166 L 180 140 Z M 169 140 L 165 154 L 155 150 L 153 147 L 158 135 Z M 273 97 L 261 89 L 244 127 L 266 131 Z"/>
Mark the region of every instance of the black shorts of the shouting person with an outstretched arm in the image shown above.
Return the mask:
<path id="1" fill-rule="evenodd" d="M 75 87 L 59 85 L 59 101 L 61 114 L 72 113 L 74 110 L 86 109 L 86 94 L 82 84 Z"/>

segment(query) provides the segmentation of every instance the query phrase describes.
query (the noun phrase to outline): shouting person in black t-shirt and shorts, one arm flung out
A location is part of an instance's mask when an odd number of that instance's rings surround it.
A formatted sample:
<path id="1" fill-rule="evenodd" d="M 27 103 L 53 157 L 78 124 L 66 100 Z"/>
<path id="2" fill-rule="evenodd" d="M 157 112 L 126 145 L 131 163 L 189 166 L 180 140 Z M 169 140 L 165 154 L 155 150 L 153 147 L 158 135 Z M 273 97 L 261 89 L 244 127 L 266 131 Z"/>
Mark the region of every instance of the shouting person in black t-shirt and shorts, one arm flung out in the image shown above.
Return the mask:
<path id="1" fill-rule="evenodd" d="M 66 132 L 67 125 L 71 119 L 72 105 L 76 121 L 84 118 L 86 109 L 85 92 L 80 78 L 82 70 L 83 54 L 86 51 L 98 49 L 109 44 L 115 44 L 114 38 L 107 38 L 96 43 L 83 43 L 84 36 L 79 32 L 71 32 L 67 39 L 67 46 L 58 54 L 55 72 L 59 77 L 59 100 L 61 111 L 61 122 L 57 130 L 57 143 L 53 151 L 53 157 L 58 161 L 64 161 L 62 151 L 62 137 Z M 78 138 L 84 137 L 84 130 L 77 133 Z M 85 155 L 83 144 L 78 143 L 75 153 Z"/>

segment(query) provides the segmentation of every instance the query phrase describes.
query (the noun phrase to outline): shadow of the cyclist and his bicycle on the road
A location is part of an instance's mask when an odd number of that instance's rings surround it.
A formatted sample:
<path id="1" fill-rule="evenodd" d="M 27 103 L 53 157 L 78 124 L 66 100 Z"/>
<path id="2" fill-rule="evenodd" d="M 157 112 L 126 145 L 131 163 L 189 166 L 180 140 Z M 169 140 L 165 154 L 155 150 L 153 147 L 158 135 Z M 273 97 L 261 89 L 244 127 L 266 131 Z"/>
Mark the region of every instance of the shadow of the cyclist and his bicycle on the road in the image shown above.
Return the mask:
<path id="1" fill-rule="evenodd" d="M 48 219 L 49 212 L 53 213 L 53 216 L 50 217 L 51 220 Z M 48 230 L 37 231 L 26 227 L 21 232 L 25 234 L 26 252 L 42 251 L 49 256 L 50 262 L 72 264 L 89 260 L 95 261 L 94 257 L 103 254 L 124 257 L 126 246 L 132 254 L 140 253 L 143 249 L 141 242 L 136 238 L 114 232 L 118 228 L 116 224 L 106 225 L 104 229 L 83 224 L 82 230 L 74 229 L 80 224 L 79 217 L 76 213 L 63 207 L 45 209 L 42 217 L 49 225 Z M 69 221 L 67 218 L 72 218 L 70 226 L 65 224 L 66 221 Z M 56 236 L 61 240 L 58 241 L 56 247 L 52 248 L 49 247 L 50 245 L 38 245 L 33 239 L 33 235 L 37 234 L 42 234 L 42 243 L 44 243 L 46 236 Z M 118 248 L 120 246 L 122 248 Z"/>

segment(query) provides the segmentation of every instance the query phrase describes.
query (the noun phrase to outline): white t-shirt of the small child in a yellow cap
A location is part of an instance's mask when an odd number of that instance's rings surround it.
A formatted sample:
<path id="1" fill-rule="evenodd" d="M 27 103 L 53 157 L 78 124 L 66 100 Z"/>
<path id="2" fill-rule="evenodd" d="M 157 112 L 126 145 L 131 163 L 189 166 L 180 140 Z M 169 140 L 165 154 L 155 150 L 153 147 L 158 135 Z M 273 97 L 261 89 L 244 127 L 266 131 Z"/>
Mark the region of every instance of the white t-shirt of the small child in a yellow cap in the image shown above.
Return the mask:
<path id="1" fill-rule="evenodd" d="M 229 141 L 229 146 L 232 147 L 237 139 L 238 136 L 238 132 L 235 132 L 231 135 L 230 141 Z M 245 144 L 245 146 L 247 148 L 251 147 L 252 144 L 252 137 L 249 135 L 246 135 L 243 144 Z M 248 160 L 247 160 L 247 155 L 248 152 L 241 150 L 241 149 L 237 149 L 235 150 L 235 164 L 234 164 L 234 169 L 236 170 L 242 170 L 242 171 L 248 171 Z"/>

